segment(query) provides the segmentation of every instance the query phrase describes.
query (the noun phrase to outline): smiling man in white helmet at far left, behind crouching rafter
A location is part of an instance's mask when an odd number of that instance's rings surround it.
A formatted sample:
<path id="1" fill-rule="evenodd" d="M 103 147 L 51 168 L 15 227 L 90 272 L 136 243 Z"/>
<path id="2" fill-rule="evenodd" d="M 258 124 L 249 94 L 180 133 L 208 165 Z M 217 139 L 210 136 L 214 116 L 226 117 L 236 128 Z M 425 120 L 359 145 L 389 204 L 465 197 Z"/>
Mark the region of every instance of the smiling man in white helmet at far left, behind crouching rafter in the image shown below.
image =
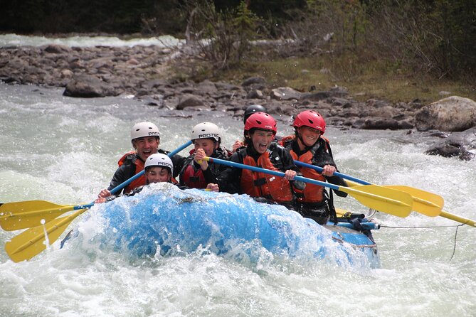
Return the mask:
<path id="1" fill-rule="evenodd" d="M 117 162 L 119 167 L 117 168 L 114 176 L 112 176 L 112 181 L 110 186 L 107 189 L 100 191 L 97 197 L 105 198 L 111 195 L 110 190 L 116 186 L 124 183 L 132 176 L 140 173 L 144 169 L 144 162 L 152 154 L 157 152 L 162 154 L 168 154 L 169 152 L 159 149 L 160 144 L 160 133 L 159 128 L 152 122 L 139 122 L 134 124 L 134 127 L 131 129 L 131 142 L 134 147 L 134 151 L 130 151 L 124 154 L 121 159 Z M 181 168 L 183 166 L 185 158 L 183 156 L 174 155 L 172 156 L 172 161 L 174 161 L 175 166 Z M 177 168 L 174 176 L 180 171 Z M 123 193 L 130 193 L 134 188 L 143 186 L 146 183 L 145 176 L 137 178 L 132 183 L 129 183 L 123 189 Z"/>

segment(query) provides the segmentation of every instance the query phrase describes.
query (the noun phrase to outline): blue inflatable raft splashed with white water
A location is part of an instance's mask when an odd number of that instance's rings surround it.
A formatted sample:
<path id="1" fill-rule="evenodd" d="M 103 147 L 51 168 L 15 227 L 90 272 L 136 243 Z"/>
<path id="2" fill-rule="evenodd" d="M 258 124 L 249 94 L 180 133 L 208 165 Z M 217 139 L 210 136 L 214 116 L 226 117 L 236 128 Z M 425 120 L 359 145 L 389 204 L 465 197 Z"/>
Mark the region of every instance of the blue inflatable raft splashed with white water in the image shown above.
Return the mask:
<path id="1" fill-rule="evenodd" d="M 376 245 L 369 237 L 370 230 L 376 229 L 373 222 L 362 222 L 362 231 L 349 222 L 321 226 L 280 205 L 256 203 L 248 195 L 179 190 L 157 183 L 138 195 L 97 205 L 91 212 L 93 221 L 102 221 L 93 240 L 101 249 L 129 257 L 204 249 L 248 261 L 258 261 L 265 252 L 273 257 L 325 259 L 351 267 L 380 265 Z"/>

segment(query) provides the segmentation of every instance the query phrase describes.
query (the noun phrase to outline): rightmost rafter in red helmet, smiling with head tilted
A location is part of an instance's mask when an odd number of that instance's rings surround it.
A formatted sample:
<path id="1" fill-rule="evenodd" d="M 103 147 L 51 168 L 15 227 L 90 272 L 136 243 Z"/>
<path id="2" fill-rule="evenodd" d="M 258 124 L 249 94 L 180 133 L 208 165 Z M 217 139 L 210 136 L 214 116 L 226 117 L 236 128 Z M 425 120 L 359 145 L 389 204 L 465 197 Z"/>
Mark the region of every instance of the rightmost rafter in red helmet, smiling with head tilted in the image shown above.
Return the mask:
<path id="1" fill-rule="evenodd" d="M 322 134 L 326 131 L 326 122 L 322 116 L 312 110 L 305 110 L 297 114 L 292 126 L 295 129 L 294 136 L 286 136 L 281 144 L 290 152 L 293 159 L 304 163 L 324 168 L 318 173 L 312 168 L 301 167 L 302 175 L 317 181 L 329 181 L 339 186 L 347 186 L 342 178 L 333 176 L 337 171 L 336 163 L 332 158 L 329 141 Z M 336 191 L 342 197 L 347 193 Z M 303 217 L 310 217 L 323 225 L 332 214 L 336 217 L 332 203 L 332 190 L 330 195 L 322 186 L 307 184 L 304 190 L 297 190 L 297 211 Z"/>

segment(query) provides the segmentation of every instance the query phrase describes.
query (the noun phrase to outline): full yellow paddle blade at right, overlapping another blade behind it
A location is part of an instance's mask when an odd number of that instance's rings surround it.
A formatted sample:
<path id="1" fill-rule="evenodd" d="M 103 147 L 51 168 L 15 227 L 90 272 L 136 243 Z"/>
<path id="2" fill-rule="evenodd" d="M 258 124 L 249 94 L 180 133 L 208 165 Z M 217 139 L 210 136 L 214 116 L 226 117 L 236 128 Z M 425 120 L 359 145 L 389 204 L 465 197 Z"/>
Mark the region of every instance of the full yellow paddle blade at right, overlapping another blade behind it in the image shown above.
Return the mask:
<path id="1" fill-rule="evenodd" d="M 352 188 L 340 186 L 339 190 L 348 193 L 363 205 L 382 213 L 398 217 L 406 217 L 411 213 L 413 199 L 410 194 L 400 190 L 378 185 L 362 185 Z"/>

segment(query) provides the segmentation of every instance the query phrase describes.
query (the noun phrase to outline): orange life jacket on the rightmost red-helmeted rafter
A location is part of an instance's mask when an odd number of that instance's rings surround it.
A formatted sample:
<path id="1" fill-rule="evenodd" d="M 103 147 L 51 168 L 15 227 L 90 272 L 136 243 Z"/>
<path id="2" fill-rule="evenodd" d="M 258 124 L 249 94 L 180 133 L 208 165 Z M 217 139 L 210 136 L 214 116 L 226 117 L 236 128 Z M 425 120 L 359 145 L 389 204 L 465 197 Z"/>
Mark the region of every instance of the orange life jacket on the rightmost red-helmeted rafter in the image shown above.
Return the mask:
<path id="1" fill-rule="evenodd" d="M 322 136 L 321 138 L 324 140 L 326 144 L 325 146 L 327 149 L 327 144 L 329 144 L 329 141 Z M 312 146 L 308 151 L 306 151 L 305 154 L 298 156 L 295 153 L 295 151 L 292 150 L 292 147 L 290 146 L 292 141 L 295 141 L 295 136 L 286 136 L 285 138 L 282 139 L 282 143 L 287 145 L 287 149 L 289 149 L 292 159 L 294 159 L 295 161 L 301 161 L 303 163 L 314 165 L 313 158 L 314 158 L 314 155 L 316 154 L 317 148 L 319 147 L 319 142 L 316 142 L 316 144 L 314 144 L 314 146 Z M 326 181 L 326 178 L 322 176 L 321 173 L 318 173 L 316 170 L 312 168 L 300 166 L 300 170 L 301 170 L 302 176 L 306 178 L 312 178 L 312 179 L 315 179 L 316 181 L 322 181 L 322 182 Z M 298 196 L 297 201 L 300 203 L 321 203 L 322 200 L 324 200 L 325 198 L 324 187 L 319 185 L 314 185 L 311 183 L 307 183 L 304 190 L 298 190 L 297 188 L 295 188 L 295 192 L 297 193 L 297 196 Z"/>

